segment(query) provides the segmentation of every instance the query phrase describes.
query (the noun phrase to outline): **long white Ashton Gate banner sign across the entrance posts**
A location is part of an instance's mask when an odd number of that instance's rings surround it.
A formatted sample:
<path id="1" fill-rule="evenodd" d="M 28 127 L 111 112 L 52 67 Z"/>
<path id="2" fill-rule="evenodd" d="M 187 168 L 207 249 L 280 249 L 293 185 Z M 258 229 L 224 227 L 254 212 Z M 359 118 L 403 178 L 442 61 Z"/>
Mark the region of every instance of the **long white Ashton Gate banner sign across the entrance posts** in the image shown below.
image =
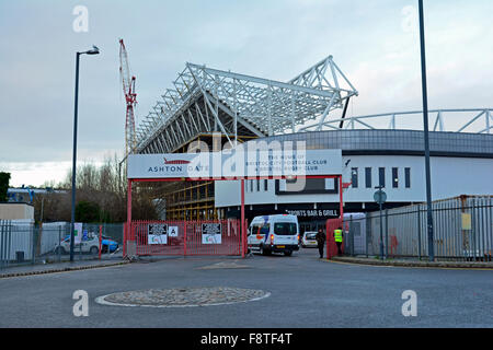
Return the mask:
<path id="1" fill-rule="evenodd" d="M 129 154 L 128 178 L 341 175 L 341 150 Z"/>

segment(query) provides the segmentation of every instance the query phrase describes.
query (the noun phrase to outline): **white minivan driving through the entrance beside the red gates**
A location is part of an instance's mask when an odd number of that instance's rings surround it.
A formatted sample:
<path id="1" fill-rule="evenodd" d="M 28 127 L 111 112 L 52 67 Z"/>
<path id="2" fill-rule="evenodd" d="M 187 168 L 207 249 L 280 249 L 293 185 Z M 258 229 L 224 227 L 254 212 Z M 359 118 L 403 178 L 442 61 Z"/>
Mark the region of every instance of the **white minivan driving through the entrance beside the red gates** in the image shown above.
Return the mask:
<path id="1" fill-rule="evenodd" d="M 284 253 L 290 256 L 299 249 L 299 224 L 296 215 L 275 214 L 255 217 L 248 232 L 249 249 L 268 255 Z"/>

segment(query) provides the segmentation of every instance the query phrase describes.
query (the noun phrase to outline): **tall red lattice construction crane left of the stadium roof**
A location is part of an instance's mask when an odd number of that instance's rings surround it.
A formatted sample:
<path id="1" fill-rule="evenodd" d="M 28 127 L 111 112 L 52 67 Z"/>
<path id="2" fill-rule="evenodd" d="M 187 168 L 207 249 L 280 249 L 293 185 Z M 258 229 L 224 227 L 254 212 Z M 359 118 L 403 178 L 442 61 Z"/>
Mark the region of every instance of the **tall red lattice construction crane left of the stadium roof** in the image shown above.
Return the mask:
<path id="1" fill-rule="evenodd" d="M 128 54 L 123 39 L 119 39 L 119 75 L 127 104 L 127 116 L 125 121 L 125 155 L 131 153 L 136 147 L 134 107 L 137 104 L 135 92 L 135 77 L 130 78 Z"/>

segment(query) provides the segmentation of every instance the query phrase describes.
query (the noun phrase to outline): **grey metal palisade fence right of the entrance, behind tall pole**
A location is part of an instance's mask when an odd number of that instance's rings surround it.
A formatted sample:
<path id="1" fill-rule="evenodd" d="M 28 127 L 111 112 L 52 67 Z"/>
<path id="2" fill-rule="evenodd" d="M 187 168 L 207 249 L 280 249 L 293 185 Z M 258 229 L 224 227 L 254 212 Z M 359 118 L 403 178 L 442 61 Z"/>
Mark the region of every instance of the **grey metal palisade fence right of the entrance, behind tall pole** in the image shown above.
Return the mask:
<path id="1" fill-rule="evenodd" d="M 493 196 L 460 196 L 433 202 L 437 260 L 491 261 Z M 346 255 L 428 257 L 426 205 L 367 213 L 345 220 Z"/>

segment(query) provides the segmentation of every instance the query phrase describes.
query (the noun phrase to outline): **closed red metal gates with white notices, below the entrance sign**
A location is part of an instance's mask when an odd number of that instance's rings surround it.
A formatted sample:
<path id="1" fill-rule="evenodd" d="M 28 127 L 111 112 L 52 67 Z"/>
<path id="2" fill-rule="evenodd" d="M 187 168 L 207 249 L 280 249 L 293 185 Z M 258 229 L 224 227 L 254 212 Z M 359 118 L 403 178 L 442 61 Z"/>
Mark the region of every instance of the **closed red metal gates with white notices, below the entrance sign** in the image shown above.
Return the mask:
<path id="1" fill-rule="evenodd" d="M 240 220 L 133 221 L 125 230 L 124 256 L 242 255 L 242 249 Z"/>

